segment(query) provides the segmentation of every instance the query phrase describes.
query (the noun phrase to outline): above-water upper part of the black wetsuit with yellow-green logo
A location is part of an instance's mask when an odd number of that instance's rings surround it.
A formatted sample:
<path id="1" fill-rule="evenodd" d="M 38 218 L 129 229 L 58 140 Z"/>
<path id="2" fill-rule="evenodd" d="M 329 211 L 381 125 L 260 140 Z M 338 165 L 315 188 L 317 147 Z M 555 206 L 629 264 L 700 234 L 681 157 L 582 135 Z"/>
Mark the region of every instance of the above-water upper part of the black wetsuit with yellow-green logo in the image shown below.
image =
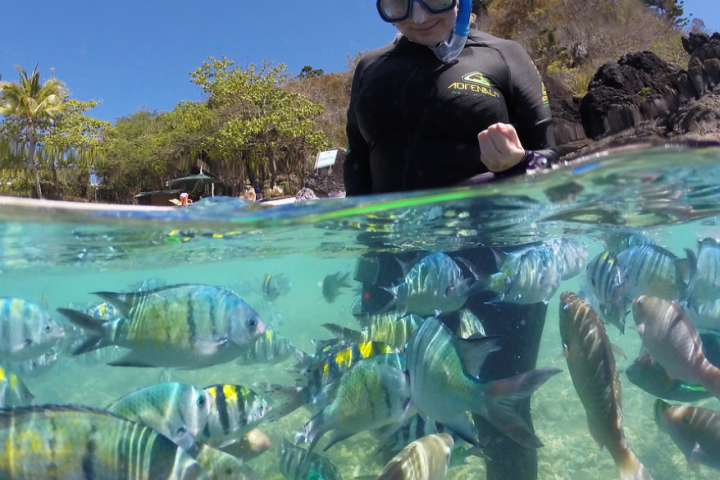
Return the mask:
<path id="1" fill-rule="evenodd" d="M 347 195 L 447 187 L 487 172 L 477 135 L 498 122 L 512 124 L 526 150 L 557 160 L 545 88 L 520 44 L 471 30 L 458 58 L 443 63 L 398 37 L 355 71 Z"/>

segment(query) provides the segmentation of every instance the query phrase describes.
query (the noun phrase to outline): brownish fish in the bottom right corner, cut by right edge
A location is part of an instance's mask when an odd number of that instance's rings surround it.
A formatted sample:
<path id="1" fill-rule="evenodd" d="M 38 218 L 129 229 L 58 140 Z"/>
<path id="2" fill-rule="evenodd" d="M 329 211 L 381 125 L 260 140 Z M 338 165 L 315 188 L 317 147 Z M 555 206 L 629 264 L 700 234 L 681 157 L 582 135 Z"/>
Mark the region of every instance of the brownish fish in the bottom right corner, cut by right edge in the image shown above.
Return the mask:
<path id="1" fill-rule="evenodd" d="M 667 432 L 694 469 L 698 464 L 720 470 L 720 412 L 673 407 L 655 400 L 655 421 Z"/>

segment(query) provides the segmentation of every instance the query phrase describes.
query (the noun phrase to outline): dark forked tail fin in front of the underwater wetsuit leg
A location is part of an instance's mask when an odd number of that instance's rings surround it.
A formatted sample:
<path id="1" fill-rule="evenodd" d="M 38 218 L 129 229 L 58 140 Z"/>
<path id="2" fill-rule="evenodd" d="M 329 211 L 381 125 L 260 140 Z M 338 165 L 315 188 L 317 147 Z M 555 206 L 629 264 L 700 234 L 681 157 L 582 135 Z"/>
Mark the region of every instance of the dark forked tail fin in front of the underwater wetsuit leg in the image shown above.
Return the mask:
<path id="1" fill-rule="evenodd" d="M 550 377 L 562 370 L 543 367 L 485 385 L 486 419 L 505 435 L 527 448 L 540 448 L 542 442 L 520 416 L 518 404 L 530 397 Z M 479 397 L 482 399 L 482 396 Z M 476 413 L 482 410 L 478 408 Z"/>

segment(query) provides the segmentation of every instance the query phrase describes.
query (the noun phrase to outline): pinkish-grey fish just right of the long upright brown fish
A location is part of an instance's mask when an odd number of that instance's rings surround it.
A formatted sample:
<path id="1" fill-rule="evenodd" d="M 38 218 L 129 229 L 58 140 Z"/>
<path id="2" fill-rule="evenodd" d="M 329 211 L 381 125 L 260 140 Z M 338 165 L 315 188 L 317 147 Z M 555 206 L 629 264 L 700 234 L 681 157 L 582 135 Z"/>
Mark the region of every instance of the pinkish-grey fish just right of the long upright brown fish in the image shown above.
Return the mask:
<path id="1" fill-rule="evenodd" d="M 699 383 L 720 398 L 720 369 L 705 358 L 700 335 L 680 305 L 641 295 L 633 301 L 633 317 L 643 346 L 671 378 Z"/>

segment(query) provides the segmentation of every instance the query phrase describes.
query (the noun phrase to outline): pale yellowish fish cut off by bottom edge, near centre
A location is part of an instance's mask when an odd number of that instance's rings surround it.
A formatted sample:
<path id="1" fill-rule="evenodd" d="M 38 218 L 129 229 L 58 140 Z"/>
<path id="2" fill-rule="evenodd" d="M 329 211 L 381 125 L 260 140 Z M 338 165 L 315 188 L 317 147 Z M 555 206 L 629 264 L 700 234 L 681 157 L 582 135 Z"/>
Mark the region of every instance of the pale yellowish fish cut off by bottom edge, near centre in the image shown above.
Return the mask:
<path id="1" fill-rule="evenodd" d="M 444 480 L 453 444 L 447 433 L 415 440 L 385 465 L 377 480 Z"/>

